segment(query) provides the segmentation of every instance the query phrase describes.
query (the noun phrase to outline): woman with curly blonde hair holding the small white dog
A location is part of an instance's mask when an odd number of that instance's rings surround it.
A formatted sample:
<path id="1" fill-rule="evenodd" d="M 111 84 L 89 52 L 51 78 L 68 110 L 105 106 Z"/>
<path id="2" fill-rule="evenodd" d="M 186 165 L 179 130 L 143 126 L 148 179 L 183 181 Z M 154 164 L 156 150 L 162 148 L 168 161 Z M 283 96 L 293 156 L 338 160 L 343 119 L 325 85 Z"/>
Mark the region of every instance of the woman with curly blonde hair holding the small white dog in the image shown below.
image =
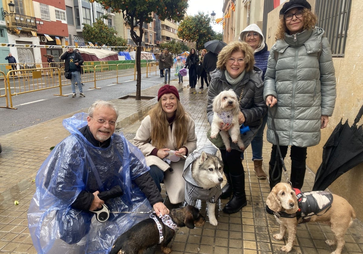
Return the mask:
<path id="1" fill-rule="evenodd" d="M 207 117 L 209 124 L 213 121 L 213 99 L 222 91 L 232 89 L 238 98 L 238 124 L 248 126 L 249 130 L 241 134 L 246 148 L 258 132 L 262 118 L 267 112 L 263 99 L 262 71 L 254 66 L 254 50 L 246 42 L 233 41 L 218 54 L 217 68 L 211 72 L 211 82 L 208 89 Z M 232 118 L 226 112 L 227 118 Z M 220 126 L 220 131 L 231 128 L 228 121 Z M 231 138 L 230 138 L 231 140 Z M 223 160 L 223 172 L 227 183 L 222 188 L 222 197 L 229 198 L 223 212 L 236 213 L 247 205 L 245 192 L 245 173 L 241 163 L 244 150 L 232 143 L 231 150 L 219 147 Z"/>

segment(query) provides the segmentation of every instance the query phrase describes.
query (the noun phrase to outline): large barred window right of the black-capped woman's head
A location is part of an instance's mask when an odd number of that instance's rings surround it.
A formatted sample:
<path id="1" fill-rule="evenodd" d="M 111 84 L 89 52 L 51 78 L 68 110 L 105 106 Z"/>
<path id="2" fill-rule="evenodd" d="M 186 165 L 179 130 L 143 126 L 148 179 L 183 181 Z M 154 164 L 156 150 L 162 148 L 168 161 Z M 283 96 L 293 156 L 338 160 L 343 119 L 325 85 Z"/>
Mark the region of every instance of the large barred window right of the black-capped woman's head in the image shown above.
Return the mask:
<path id="1" fill-rule="evenodd" d="M 318 27 L 325 30 L 333 57 L 344 57 L 352 0 L 317 0 Z"/>

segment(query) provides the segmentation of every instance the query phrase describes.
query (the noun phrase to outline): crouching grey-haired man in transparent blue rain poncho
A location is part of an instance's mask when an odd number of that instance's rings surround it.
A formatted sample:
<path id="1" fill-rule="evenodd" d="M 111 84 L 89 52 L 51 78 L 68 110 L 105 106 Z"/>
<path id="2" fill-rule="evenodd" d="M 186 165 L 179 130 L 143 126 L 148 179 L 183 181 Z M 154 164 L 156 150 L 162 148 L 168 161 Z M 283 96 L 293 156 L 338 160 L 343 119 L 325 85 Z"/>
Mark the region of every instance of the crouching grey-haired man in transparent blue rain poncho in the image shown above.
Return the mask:
<path id="1" fill-rule="evenodd" d="M 157 215 L 169 213 L 143 154 L 114 134 L 117 117 L 112 103 L 96 101 L 88 115 L 78 113 L 63 121 L 71 135 L 40 167 L 28 210 L 39 254 L 106 254 L 119 235 L 148 216 L 115 212 L 147 212 L 152 205 Z M 91 211 L 103 204 L 110 213 L 100 222 Z"/>

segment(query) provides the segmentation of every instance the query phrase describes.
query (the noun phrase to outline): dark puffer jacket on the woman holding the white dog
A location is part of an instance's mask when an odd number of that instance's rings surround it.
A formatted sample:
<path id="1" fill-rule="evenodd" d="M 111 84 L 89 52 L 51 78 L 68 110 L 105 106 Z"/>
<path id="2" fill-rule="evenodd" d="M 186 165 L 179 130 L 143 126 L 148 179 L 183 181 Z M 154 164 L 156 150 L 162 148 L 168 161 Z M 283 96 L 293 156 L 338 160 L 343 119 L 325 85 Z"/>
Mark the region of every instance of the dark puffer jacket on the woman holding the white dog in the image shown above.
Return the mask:
<path id="1" fill-rule="evenodd" d="M 253 70 L 246 72 L 240 84 L 238 84 L 234 92 L 237 99 L 240 99 L 241 91 L 244 86 L 242 98 L 240 101 L 240 109 L 244 114 L 244 125 L 250 127 L 250 131 L 241 135 L 245 147 L 247 147 L 256 135 L 257 130 L 262 123 L 262 117 L 267 113 L 267 106 L 263 98 L 264 84 L 262 82 L 262 71 L 260 68 L 254 66 Z M 232 89 L 232 86 L 227 82 L 224 70 L 216 69 L 211 72 L 211 83 L 208 89 L 208 105 L 207 117 L 209 124 L 213 120 L 212 100 L 221 91 Z M 237 144 L 231 142 L 232 149 L 240 150 Z"/>

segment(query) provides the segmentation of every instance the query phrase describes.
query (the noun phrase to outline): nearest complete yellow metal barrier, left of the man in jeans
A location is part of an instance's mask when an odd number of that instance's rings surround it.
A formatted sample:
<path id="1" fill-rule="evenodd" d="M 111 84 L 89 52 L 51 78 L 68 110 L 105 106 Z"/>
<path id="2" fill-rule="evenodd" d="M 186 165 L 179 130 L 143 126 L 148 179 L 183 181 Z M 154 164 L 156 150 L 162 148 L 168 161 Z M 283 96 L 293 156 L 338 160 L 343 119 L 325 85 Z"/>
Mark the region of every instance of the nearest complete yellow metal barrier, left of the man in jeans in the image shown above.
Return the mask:
<path id="1" fill-rule="evenodd" d="M 6 80 L 8 83 L 8 96 L 11 108 L 13 107 L 12 96 L 14 95 L 59 87 L 59 95 L 62 96 L 62 87 L 60 85 L 60 70 L 57 69 L 57 72 L 55 72 L 56 75 L 54 75 L 54 77 L 42 76 L 42 71 L 48 69 L 51 68 L 27 69 L 27 73 L 31 73 L 31 76 L 29 75 L 29 77 L 31 78 L 29 79 L 26 79 L 27 76 L 15 75 L 15 72 L 17 72 L 17 70 L 11 70 L 8 72 Z"/>

